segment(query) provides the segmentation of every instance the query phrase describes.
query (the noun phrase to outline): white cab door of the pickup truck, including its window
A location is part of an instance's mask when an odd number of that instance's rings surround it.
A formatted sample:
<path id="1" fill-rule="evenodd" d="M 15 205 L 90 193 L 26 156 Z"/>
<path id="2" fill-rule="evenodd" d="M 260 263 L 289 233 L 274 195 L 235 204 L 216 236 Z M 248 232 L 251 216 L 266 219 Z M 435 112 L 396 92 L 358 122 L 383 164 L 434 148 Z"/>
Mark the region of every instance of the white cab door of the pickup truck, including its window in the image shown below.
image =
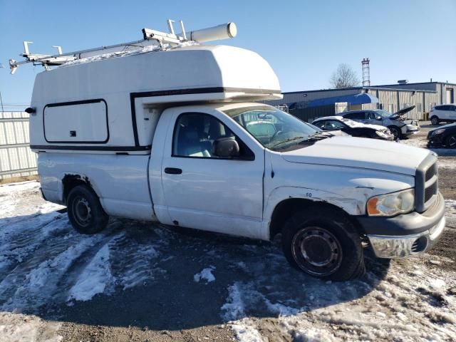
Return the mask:
<path id="1" fill-rule="evenodd" d="M 239 157 L 214 155 L 221 138 L 237 141 Z M 216 110 L 174 113 L 164 152 L 162 187 L 172 224 L 261 236 L 264 149 L 248 133 Z"/>

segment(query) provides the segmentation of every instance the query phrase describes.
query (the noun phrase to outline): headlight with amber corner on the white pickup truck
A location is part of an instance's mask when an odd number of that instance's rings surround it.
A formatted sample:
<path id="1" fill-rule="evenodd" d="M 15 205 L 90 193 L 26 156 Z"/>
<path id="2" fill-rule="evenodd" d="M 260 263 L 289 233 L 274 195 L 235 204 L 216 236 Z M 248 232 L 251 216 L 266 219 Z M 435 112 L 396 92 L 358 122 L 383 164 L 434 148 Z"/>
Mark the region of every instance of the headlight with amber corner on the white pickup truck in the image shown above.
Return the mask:
<path id="1" fill-rule="evenodd" d="M 393 216 L 406 214 L 415 208 L 415 191 L 413 189 L 393 192 L 368 199 L 369 216 Z"/>

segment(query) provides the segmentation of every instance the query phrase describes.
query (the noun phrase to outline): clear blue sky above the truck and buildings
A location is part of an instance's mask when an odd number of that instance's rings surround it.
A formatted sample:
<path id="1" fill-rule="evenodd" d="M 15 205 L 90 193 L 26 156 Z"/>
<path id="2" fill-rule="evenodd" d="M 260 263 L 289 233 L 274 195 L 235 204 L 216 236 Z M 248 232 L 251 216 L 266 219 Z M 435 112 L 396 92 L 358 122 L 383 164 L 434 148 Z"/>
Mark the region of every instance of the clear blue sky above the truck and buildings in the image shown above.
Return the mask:
<path id="1" fill-rule="evenodd" d="M 9 58 L 22 60 L 22 41 L 33 41 L 35 53 L 55 53 L 53 45 L 76 51 L 139 40 L 144 27 L 167 31 L 166 19 L 183 20 L 186 31 L 233 21 L 237 37 L 219 43 L 259 53 L 283 91 L 331 88 L 339 63 L 361 79 L 366 57 L 372 85 L 456 83 L 456 0 L 0 0 L 5 110 L 30 103 L 36 73 L 43 71 L 27 64 L 9 74 Z"/>

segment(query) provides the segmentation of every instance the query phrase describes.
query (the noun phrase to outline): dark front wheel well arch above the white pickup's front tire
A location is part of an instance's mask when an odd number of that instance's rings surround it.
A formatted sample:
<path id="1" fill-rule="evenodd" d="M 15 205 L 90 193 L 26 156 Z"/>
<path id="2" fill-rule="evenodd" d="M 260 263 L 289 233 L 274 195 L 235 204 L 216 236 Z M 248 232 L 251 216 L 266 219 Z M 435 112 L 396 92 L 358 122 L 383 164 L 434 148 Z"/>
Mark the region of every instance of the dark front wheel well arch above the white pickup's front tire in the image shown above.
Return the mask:
<path id="1" fill-rule="evenodd" d="M 304 207 L 330 207 L 331 209 L 345 215 L 348 217 L 350 222 L 355 227 L 356 231 L 360 234 L 366 234 L 363 232 L 361 225 L 358 223 L 358 220 L 355 219 L 353 216 L 347 214 L 343 209 L 337 207 L 334 204 L 330 204 L 327 202 L 316 202 L 312 201 L 311 199 L 304 199 L 304 198 L 289 198 L 285 199 L 284 201 L 280 202 L 274 208 L 274 212 L 271 215 L 271 222 L 269 223 L 269 239 L 274 239 L 277 234 L 281 233 L 281 229 L 284 225 L 286 219 L 291 217 L 292 214 L 303 209 Z"/>

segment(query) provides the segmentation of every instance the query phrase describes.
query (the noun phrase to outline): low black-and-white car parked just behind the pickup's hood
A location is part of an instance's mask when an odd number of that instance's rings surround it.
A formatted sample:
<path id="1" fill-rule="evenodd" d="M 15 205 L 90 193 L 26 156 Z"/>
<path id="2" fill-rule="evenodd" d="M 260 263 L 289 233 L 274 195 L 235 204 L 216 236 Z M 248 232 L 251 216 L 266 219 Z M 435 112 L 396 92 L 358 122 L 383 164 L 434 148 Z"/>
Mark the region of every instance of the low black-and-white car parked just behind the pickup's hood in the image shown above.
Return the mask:
<path id="1" fill-rule="evenodd" d="M 316 125 L 316 127 L 322 130 L 341 130 L 343 133 L 347 133 L 353 137 L 394 140 L 394 135 L 384 126 L 358 123 L 342 116 L 318 118 L 312 122 L 312 125 Z"/>

